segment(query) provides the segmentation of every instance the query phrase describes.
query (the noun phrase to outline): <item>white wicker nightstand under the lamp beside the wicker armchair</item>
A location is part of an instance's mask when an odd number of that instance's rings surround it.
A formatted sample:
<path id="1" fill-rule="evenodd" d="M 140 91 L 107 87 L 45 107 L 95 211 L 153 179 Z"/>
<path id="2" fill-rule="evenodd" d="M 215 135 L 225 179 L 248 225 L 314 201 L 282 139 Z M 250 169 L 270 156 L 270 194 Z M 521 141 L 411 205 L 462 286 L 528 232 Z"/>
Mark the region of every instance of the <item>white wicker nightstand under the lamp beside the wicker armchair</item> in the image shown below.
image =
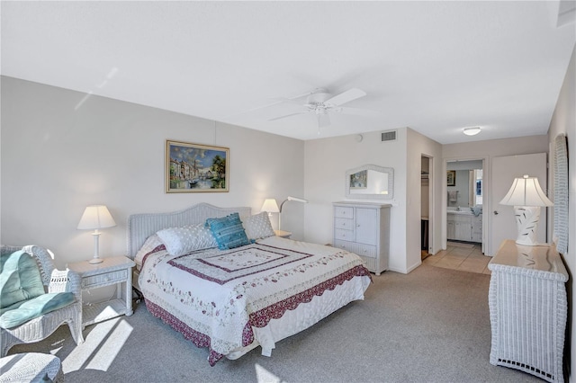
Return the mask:
<path id="1" fill-rule="evenodd" d="M 82 307 L 84 327 L 115 316 L 132 315 L 132 267 L 135 264 L 125 256 L 103 258 L 102 263 L 96 264 L 90 264 L 88 261 L 68 263 L 68 269 L 82 277 L 83 291 L 117 285 L 116 298 Z M 125 284 L 123 290 L 122 284 Z"/>

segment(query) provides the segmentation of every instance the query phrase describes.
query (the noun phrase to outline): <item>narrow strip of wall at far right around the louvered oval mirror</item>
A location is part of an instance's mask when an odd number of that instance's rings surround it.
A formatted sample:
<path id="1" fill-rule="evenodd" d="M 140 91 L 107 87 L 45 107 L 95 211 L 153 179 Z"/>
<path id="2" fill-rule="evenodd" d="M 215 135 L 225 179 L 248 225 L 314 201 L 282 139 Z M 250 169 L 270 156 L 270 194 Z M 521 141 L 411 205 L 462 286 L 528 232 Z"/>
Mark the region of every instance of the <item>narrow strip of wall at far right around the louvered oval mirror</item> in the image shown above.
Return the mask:
<path id="1" fill-rule="evenodd" d="M 550 122 L 550 129 L 548 129 L 548 140 L 552 150 L 551 157 L 554 156 L 554 138 L 560 133 L 564 133 L 568 138 L 568 219 L 569 219 L 569 236 L 568 236 L 568 252 L 563 254 L 564 263 L 571 279 L 574 278 L 576 272 L 576 47 L 572 50 L 572 58 L 568 66 L 568 71 L 564 77 L 563 87 L 560 91 L 558 101 L 552 121 Z M 553 169 L 554 166 L 551 166 Z M 551 190 L 551 195 L 554 196 L 554 173 L 552 171 L 548 174 L 548 184 Z M 550 214 L 552 218 L 552 214 Z M 551 224 L 554 221 L 550 220 Z M 553 232 L 554 227 L 551 227 Z M 569 350 L 572 354 L 571 358 L 571 371 L 572 374 L 576 371 L 576 316 L 574 316 L 574 296 L 576 296 L 576 284 L 574 281 L 568 282 L 568 299 L 569 306 L 572 307 L 569 313 L 572 317 L 568 318 L 568 326 L 572 328 L 568 334 L 572 334 L 572 339 L 567 340 Z M 572 378 L 567 381 L 574 381 Z"/>

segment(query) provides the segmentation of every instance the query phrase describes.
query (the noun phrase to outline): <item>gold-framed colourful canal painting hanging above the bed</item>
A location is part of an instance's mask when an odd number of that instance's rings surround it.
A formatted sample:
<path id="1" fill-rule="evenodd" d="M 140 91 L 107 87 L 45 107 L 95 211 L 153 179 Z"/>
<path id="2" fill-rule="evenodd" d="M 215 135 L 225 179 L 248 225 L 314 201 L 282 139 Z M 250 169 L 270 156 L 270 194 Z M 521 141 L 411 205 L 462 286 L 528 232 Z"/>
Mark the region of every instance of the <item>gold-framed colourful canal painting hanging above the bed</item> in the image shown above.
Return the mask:
<path id="1" fill-rule="evenodd" d="M 229 191 L 229 148 L 166 140 L 166 192 Z"/>

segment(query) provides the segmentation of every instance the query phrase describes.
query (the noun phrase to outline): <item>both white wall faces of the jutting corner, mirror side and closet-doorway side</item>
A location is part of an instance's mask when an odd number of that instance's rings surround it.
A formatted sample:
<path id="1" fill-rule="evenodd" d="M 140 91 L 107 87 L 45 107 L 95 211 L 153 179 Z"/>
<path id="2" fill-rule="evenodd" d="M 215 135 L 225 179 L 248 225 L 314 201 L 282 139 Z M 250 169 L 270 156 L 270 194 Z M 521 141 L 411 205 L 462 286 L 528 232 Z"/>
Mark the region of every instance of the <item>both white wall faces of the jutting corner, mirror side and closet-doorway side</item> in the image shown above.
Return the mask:
<path id="1" fill-rule="evenodd" d="M 386 129 L 383 129 L 386 130 Z M 430 192 L 435 209 L 430 211 L 433 234 L 432 252 L 437 253 L 441 241 L 442 146 L 408 128 L 397 130 L 395 141 L 381 141 L 381 131 L 337 138 L 319 138 L 305 143 L 305 198 L 310 200 L 305 211 L 305 239 L 328 244 L 332 242 L 332 202 L 346 198 L 346 172 L 361 165 L 380 165 L 394 169 L 390 233 L 390 270 L 407 273 L 421 263 L 421 156 L 431 159 Z M 439 179 L 438 179 L 439 177 Z M 428 196 L 427 196 L 428 198 Z M 353 200 L 353 199 L 349 199 Z"/>

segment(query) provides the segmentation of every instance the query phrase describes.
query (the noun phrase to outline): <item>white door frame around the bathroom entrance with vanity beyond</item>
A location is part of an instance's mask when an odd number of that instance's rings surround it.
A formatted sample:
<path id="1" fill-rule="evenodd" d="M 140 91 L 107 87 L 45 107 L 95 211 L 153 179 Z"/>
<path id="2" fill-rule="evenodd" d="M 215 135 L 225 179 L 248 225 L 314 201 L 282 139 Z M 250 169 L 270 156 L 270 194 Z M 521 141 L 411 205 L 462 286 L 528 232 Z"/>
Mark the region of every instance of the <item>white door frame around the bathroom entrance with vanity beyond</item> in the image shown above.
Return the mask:
<path id="1" fill-rule="evenodd" d="M 444 157 L 442 163 L 442 179 L 445 180 L 442 183 L 442 194 L 445 198 L 442 198 L 442 248 L 446 250 L 447 247 L 447 219 L 448 219 L 448 200 L 446 196 L 448 195 L 448 187 L 446 185 L 446 171 L 448 169 L 449 162 L 455 161 L 478 161 L 482 160 L 482 253 L 486 254 L 486 251 L 490 249 L 491 244 L 491 234 L 488 230 L 491 223 L 491 195 L 485 191 L 490 191 L 491 188 L 491 165 L 490 156 L 454 156 L 454 157 Z M 488 255 L 488 254 L 487 254 Z"/>

